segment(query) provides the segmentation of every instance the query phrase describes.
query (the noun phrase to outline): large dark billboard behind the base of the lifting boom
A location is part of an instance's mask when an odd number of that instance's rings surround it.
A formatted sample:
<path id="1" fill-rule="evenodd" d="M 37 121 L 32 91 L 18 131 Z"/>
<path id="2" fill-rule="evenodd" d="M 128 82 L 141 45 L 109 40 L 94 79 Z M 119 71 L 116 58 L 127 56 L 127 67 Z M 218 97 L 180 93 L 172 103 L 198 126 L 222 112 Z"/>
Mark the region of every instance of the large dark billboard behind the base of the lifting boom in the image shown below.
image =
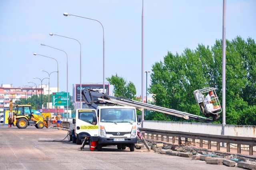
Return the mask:
<path id="1" fill-rule="evenodd" d="M 103 84 L 82 84 L 82 90 L 84 88 L 103 92 Z M 109 84 L 105 84 L 105 94 L 109 95 Z M 73 102 L 80 102 L 80 84 L 73 84 Z M 84 102 L 83 97 L 82 102 Z"/>

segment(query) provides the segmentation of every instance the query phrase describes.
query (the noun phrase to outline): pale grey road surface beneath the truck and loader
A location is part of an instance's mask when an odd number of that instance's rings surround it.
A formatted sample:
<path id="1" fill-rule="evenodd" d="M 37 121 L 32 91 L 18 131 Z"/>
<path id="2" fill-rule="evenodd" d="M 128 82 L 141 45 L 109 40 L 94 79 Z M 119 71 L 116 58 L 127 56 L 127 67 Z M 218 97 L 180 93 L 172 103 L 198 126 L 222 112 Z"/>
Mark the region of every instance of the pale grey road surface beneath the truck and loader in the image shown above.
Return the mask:
<path id="1" fill-rule="evenodd" d="M 68 131 L 0 125 L 0 170 L 236 170 L 191 158 L 158 154 L 146 148 L 130 152 L 116 147 L 90 151 L 68 141 Z"/>

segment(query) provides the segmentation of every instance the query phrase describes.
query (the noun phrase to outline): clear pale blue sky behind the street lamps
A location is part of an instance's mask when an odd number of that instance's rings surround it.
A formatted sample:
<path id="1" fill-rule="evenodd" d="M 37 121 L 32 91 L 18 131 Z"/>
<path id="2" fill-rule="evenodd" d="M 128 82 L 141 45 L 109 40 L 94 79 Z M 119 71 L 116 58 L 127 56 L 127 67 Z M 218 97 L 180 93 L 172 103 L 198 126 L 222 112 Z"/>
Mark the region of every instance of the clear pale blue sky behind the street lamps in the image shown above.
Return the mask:
<path id="1" fill-rule="evenodd" d="M 198 44 L 213 46 L 222 39 L 222 0 L 144 0 L 144 70 L 163 61 L 168 51 L 181 54 Z M 241 36 L 256 39 L 256 1 L 227 0 L 226 39 Z M 103 83 L 103 31 L 93 20 L 63 16 L 64 12 L 92 18 L 102 23 L 105 39 L 105 77 L 116 73 L 135 84 L 141 95 L 142 0 L 0 0 L 1 84 L 23 86 L 40 84 L 33 77 L 46 78 L 57 71 L 59 88 L 66 91 L 66 54 L 68 86 L 80 84 L 80 45 L 82 46 L 82 83 Z M 105 82 L 107 82 L 105 80 Z M 48 79 L 43 81 L 47 84 Z M 148 74 L 148 86 L 150 75 Z M 33 84 L 29 84 L 33 85 Z M 50 76 L 57 87 L 57 74 Z M 144 74 L 146 94 L 146 73 Z M 144 96 L 145 96 L 144 94 Z"/>

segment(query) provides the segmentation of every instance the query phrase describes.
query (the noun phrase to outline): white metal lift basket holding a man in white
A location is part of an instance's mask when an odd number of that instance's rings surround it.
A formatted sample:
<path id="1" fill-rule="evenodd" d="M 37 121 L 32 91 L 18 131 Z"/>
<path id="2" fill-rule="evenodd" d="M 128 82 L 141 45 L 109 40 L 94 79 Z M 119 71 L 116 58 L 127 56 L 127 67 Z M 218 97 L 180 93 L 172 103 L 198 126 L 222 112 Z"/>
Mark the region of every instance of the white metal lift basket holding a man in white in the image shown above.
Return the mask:
<path id="1" fill-rule="evenodd" d="M 208 87 L 194 91 L 194 96 L 200 108 L 200 112 L 206 117 L 212 116 L 213 120 L 220 118 L 219 114 L 222 112 L 215 89 L 216 88 Z"/>

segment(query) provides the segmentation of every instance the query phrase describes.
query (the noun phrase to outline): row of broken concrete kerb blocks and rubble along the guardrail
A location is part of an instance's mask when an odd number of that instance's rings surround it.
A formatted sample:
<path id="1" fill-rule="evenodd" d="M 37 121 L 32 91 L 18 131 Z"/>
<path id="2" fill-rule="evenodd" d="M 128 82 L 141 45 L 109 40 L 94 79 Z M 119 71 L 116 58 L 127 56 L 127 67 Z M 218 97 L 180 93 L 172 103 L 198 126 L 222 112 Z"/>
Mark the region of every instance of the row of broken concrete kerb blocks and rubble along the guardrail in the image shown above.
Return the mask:
<path id="1" fill-rule="evenodd" d="M 256 157 L 242 154 L 231 154 L 220 151 L 210 151 L 203 148 L 195 148 L 196 144 L 190 142 L 184 146 L 164 144 L 164 142 L 147 141 L 151 150 L 158 154 L 181 156 L 194 160 L 205 161 L 206 164 L 224 165 L 256 170 Z M 237 161 L 234 161 L 237 160 Z"/>

